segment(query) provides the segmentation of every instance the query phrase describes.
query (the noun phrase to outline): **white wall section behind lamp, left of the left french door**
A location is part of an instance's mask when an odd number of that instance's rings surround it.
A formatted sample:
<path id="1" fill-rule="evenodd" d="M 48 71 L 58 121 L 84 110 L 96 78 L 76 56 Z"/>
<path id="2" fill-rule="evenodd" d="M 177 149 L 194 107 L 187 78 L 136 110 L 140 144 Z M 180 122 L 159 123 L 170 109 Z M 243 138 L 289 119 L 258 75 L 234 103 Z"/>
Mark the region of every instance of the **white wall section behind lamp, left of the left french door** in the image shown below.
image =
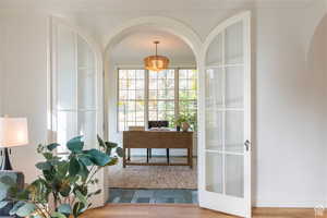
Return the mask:
<path id="1" fill-rule="evenodd" d="M 36 146 L 47 138 L 47 16 L 1 13 L 3 113 L 27 117 L 29 146 L 13 149 L 12 164 L 26 181 L 37 175 Z"/>

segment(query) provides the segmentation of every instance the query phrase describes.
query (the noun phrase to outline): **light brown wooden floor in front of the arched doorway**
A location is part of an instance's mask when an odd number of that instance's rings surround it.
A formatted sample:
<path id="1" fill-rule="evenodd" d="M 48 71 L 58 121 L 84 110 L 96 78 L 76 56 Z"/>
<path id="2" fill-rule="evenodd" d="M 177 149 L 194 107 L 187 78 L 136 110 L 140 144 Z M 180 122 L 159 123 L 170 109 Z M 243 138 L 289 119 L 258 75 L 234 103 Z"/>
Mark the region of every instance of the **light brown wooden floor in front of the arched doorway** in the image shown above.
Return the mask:
<path id="1" fill-rule="evenodd" d="M 314 217 L 313 209 L 253 209 L 253 218 Z M 233 216 L 202 209 L 195 205 L 111 204 L 99 209 L 89 210 L 83 218 L 233 218 Z"/>

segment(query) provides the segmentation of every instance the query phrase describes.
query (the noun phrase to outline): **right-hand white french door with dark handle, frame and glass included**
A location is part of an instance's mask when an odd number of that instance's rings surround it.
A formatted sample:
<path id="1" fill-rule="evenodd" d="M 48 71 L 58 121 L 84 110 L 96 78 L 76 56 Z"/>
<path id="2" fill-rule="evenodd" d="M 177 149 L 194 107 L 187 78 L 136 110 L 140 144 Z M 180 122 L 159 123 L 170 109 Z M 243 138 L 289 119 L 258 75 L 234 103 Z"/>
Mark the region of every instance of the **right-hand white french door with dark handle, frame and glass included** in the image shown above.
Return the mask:
<path id="1" fill-rule="evenodd" d="M 202 61 L 199 206 L 251 217 L 251 13 L 217 26 Z"/>

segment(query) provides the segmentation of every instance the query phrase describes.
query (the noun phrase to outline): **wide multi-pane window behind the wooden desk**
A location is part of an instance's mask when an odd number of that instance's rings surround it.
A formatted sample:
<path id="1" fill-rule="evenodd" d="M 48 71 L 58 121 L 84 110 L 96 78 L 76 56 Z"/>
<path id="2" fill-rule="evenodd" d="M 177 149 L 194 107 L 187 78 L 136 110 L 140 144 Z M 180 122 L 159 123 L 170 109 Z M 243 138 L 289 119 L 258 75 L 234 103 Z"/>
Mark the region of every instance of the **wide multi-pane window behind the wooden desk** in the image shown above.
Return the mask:
<path id="1" fill-rule="evenodd" d="M 119 69 L 118 73 L 118 131 L 156 120 L 168 120 L 174 128 L 179 116 L 186 117 L 196 130 L 196 70 Z"/>

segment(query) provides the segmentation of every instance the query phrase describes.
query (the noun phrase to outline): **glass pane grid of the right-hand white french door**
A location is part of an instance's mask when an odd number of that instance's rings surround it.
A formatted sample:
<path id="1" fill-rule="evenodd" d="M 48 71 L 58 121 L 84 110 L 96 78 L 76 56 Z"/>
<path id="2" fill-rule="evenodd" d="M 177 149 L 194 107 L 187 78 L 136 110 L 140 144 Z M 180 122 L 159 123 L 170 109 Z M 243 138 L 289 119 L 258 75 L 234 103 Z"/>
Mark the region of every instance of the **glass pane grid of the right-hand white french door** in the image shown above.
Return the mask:
<path id="1" fill-rule="evenodd" d="M 208 50 L 206 70 L 206 158 L 217 165 L 216 169 L 207 167 L 206 190 L 234 197 L 244 197 L 242 34 L 242 22 L 227 27 L 217 37 L 216 48 Z M 215 189 L 213 173 L 220 177 L 215 178 Z"/>

